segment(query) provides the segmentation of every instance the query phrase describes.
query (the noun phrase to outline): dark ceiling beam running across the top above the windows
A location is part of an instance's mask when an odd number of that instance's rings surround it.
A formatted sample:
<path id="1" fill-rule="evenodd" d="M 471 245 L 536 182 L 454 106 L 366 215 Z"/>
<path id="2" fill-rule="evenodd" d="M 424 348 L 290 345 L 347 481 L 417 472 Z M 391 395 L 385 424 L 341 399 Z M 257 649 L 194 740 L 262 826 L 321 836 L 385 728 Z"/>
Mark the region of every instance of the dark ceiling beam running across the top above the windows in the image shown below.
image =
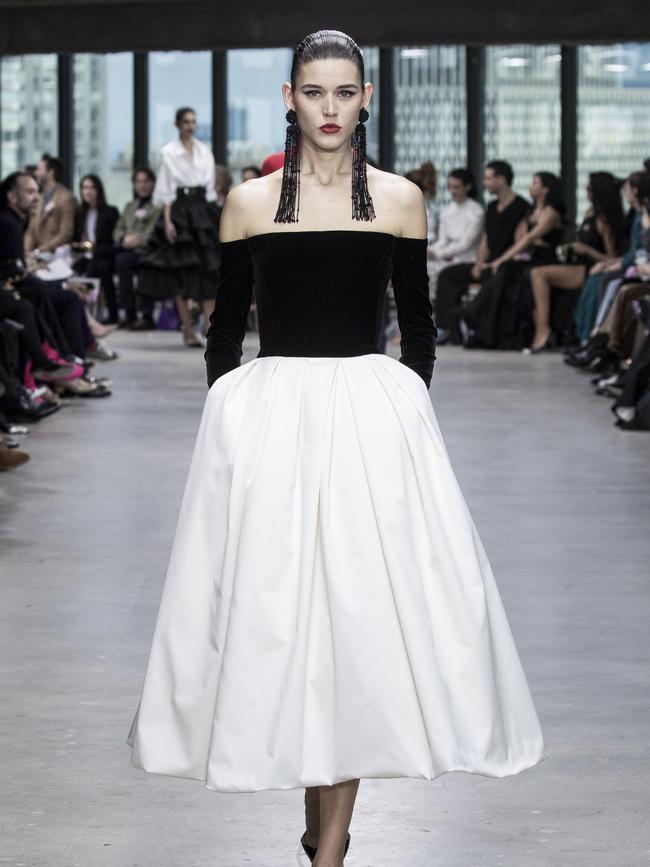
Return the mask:
<path id="1" fill-rule="evenodd" d="M 371 14 L 370 14 L 371 13 Z M 0 0 L 0 54 L 270 48 L 336 27 L 363 45 L 639 41 L 650 31 L 647 0 Z"/>

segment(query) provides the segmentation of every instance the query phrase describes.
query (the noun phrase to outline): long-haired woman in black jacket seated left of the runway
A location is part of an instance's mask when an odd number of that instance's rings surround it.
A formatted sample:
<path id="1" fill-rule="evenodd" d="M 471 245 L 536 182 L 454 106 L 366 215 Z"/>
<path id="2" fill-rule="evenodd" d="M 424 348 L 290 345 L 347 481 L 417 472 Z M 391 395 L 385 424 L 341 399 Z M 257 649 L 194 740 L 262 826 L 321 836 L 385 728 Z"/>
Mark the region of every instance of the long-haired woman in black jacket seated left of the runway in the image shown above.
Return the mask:
<path id="1" fill-rule="evenodd" d="M 74 240 L 89 242 L 91 251 L 78 261 L 75 270 L 86 277 L 98 277 L 107 316 L 102 325 L 117 323 L 117 295 L 113 284 L 115 269 L 115 245 L 113 231 L 119 220 L 119 212 L 106 202 L 104 185 L 97 175 L 84 175 L 79 182 L 81 204 L 75 214 Z"/>

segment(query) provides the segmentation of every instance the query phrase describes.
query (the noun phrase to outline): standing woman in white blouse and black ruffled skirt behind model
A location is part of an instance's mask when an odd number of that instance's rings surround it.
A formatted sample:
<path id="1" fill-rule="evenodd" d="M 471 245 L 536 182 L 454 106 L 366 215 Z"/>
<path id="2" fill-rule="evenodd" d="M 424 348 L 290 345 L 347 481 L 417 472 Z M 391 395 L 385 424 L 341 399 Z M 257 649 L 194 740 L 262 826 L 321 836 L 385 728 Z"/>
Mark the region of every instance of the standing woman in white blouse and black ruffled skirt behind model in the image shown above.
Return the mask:
<path id="1" fill-rule="evenodd" d="M 178 137 L 161 148 L 153 202 L 163 208 L 146 253 L 138 291 L 158 300 L 176 298 L 186 346 L 203 346 L 187 305 L 203 308 L 204 333 L 214 309 L 219 269 L 219 218 L 212 151 L 195 138 L 196 113 L 176 112 Z"/>

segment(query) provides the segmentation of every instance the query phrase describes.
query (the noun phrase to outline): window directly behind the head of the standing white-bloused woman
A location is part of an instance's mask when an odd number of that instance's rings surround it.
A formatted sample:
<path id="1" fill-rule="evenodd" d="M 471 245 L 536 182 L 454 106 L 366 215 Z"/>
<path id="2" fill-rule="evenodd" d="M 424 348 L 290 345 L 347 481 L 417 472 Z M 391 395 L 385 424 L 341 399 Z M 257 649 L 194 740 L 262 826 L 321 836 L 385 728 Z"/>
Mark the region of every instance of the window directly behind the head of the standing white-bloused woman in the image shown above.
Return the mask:
<path id="1" fill-rule="evenodd" d="M 149 55 L 149 159 L 160 162 L 160 148 L 176 138 L 176 110 L 196 112 L 196 137 L 212 144 L 212 55 L 209 51 L 153 51 Z"/>

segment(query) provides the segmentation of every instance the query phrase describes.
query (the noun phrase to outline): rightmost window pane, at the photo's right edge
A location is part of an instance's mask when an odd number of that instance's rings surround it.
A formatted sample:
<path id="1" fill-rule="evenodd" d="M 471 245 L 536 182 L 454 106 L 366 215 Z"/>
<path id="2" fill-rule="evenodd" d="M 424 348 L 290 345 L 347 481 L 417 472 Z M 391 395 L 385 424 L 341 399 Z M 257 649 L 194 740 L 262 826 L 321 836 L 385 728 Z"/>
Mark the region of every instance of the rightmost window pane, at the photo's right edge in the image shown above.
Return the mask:
<path id="1" fill-rule="evenodd" d="M 589 172 L 625 177 L 650 157 L 650 44 L 583 46 L 578 72 L 578 213 Z"/>

